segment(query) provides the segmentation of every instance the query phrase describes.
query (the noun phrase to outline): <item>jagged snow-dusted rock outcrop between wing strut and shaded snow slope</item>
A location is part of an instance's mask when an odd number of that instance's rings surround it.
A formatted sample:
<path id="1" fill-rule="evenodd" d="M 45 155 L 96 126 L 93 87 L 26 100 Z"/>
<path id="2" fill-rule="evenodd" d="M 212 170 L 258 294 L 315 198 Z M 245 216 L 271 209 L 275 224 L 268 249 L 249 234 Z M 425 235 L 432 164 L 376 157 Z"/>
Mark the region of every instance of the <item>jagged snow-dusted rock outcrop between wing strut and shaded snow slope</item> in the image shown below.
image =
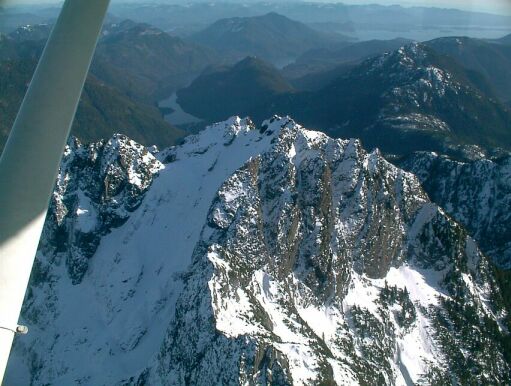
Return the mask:
<path id="1" fill-rule="evenodd" d="M 85 275 L 101 237 L 122 225 L 163 168 L 124 135 L 82 145 L 71 138 L 62 159 L 41 250 L 63 253 L 74 284 Z"/>

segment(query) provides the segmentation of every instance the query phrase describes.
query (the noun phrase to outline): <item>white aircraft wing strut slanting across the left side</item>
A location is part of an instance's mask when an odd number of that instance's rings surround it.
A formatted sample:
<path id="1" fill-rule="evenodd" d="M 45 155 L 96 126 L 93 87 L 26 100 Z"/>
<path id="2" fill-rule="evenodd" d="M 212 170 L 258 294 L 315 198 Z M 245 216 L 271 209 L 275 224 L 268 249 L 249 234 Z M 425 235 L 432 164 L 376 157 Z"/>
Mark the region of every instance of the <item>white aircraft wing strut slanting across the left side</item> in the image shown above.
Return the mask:
<path id="1" fill-rule="evenodd" d="M 109 0 L 66 0 L 0 158 L 0 381 Z"/>

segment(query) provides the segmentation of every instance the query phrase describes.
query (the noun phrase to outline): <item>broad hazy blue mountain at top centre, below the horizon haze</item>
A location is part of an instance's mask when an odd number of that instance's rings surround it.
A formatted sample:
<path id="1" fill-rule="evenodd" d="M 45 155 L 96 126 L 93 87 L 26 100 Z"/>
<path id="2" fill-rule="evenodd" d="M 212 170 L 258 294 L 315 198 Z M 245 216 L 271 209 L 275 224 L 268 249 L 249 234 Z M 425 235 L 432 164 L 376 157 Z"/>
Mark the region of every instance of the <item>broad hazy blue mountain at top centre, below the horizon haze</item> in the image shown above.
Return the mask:
<path id="1" fill-rule="evenodd" d="M 252 55 L 279 63 L 346 37 L 315 31 L 272 12 L 262 16 L 221 19 L 191 39 L 233 58 Z"/>

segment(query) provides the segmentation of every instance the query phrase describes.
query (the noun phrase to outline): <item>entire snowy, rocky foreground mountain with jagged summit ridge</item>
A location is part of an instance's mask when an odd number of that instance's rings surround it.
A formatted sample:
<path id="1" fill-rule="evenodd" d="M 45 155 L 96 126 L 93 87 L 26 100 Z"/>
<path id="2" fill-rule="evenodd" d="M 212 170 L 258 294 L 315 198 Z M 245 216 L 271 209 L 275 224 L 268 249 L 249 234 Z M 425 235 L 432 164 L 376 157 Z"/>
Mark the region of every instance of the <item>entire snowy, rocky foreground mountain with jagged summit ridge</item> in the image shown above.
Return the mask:
<path id="1" fill-rule="evenodd" d="M 278 117 L 119 140 L 66 152 L 13 384 L 509 382 L 486 257 L 377 151 Z"/>

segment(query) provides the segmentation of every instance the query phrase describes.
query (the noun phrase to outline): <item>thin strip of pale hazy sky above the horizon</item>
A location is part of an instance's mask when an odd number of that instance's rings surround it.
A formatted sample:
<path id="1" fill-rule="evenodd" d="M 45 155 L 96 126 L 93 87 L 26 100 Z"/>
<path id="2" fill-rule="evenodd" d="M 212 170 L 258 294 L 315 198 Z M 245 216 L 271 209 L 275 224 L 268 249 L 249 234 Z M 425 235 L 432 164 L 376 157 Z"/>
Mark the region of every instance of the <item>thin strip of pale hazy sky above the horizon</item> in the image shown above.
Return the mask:
<path id="1" fill-rule="evenodd" d="M 111 0 L 113 3 L 120 3 L 126 0 Z M 133 2 L 133 0 L 129 0 Z M 147 0 L 140 0 L 144 2 Z M 169 3 L 180 3 L 179 0 L 149 0 L 153 2 L 169 2 Z M 182 2 L 186 2 L 184 0 Z M 201 0 L 199 0 L 201 1 Z M 204 1 L 204 0 L 202 0 Z M 276 0 L 278 1 L 278 0 Z M 310 0 L 309 0 L 310 1 Z M 330 2 L 328 0 L 316 0 L 320 2 Z M 48 3 L 60 3 L 62 0 L 0 0 L 1 5 L 14 5 L 14 4 L 48 4 Z M 332 1 L 335 2 L 335 1 Z M 435 6 L 443 8 L 459 8 L 464 10 L 491 12 L 497 14 L 511 15 L 511 0 L 344 0 L 346 4 L 400 4 L 404 6 Z"/>

